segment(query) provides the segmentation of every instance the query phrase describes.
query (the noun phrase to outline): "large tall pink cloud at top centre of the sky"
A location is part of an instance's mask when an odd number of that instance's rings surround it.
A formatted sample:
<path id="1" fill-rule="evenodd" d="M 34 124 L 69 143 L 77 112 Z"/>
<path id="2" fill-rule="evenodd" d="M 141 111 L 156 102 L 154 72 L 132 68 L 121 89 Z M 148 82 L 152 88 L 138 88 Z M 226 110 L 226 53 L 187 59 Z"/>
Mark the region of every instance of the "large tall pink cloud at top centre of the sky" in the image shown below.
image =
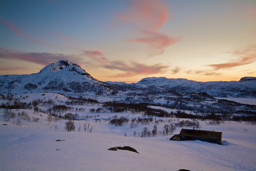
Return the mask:
<path id="1" fill-rule="evenodd" d="M 177 43 L 181 38 L 175 38 L 160 33 L 159 29 L 171 19 L 168 15 L 168 7 L 161 1 L 156 0 L 133 0 L 129 10 L 117 13 L 116 18 L 130 24 L 140 38 L 124 39 L 130 43 L 143 43 L 150 49 L 149 56 L 157 56 L 164 53 L 164 50 Z"/>

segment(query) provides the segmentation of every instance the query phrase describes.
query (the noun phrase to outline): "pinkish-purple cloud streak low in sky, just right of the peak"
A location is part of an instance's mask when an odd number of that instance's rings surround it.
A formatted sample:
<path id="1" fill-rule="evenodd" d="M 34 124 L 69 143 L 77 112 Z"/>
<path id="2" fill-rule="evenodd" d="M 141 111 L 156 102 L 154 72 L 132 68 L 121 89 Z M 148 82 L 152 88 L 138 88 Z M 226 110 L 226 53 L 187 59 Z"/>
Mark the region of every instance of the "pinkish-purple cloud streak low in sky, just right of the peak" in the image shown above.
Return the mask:
<path id="1" fill-rule="evenodd" d="M 166 68 L 162 64 L 146 65 L 130 61 L 128 64 L 124 61 L 109 61 L 99 50 L 83 50 L 85 56 L 91 57 L 93 60 L 101 64 L 103 68 L 110 70 L 119 70 L 125 73 L 115 75 L 115 77 L 133 77 L 136 75 L 152 75 L 156 73 L 164 73 Z"/>

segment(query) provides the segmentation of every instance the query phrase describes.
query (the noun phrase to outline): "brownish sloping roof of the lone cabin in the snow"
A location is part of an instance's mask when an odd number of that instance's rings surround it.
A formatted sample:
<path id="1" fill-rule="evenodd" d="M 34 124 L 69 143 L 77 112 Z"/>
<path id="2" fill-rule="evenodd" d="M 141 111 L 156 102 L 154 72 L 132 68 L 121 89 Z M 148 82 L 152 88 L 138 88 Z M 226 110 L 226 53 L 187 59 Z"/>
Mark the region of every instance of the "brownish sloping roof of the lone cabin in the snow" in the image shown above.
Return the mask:
<path id="1" fill-rule="evenodd" d="M 180 135 L 221 140 L 222 132 L 182 129 L 180 131 Z"/>

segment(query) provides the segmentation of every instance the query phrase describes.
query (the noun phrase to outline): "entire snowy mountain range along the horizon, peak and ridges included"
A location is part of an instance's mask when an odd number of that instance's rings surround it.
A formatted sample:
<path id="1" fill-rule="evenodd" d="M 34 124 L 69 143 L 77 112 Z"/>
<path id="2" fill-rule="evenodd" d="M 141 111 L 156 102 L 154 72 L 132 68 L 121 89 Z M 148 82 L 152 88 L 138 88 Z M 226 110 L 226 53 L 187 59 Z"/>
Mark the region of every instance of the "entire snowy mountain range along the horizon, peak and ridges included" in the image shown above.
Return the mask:
<path id="1" fill-rule="evenodd" d="M 143 78 L 136 84 L 125 82 L 100 82 L 78 64 L 67 60 L 45 66 L 39 73 L 31 75 L 0 75 L 1 94 L 19 93 L 90 93 L 115 94 L 122 91 L 150 90 L 162 93 L 207 93 L 216 97 L 256 98 L 256 77 L 243 77 L 230 82 L 196 82 L 184 78 Z"/>

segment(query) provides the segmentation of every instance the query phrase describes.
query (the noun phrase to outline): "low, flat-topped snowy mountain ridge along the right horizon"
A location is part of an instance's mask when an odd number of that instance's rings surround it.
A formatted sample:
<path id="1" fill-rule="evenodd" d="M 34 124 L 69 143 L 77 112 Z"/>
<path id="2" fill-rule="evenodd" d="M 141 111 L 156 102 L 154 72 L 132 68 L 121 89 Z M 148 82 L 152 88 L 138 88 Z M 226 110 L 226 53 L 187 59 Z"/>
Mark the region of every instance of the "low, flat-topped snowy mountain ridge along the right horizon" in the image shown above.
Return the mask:
<path id="1" fill-rule="evenodd" d="M 184 78 L 143 78 L 137 84 L 161 87 L 177 93 L 207 93 L 220 97 L 256 97 L 256 77 L 243 77 L 230 82 L 196 82 Z"/>

